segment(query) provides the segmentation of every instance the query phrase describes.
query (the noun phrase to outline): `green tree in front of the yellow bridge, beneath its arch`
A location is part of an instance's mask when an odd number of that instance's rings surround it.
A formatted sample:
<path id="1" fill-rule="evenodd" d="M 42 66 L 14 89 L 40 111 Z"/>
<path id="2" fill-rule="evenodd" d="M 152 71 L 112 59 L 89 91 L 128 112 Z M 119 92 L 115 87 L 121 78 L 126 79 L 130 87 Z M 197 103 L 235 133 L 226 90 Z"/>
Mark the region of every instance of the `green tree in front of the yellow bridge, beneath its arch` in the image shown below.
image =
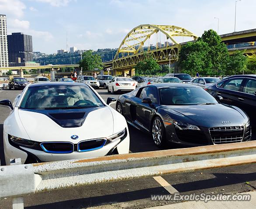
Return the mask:
<path id="1" fill-rule="evenodd" d="M 159 73 L 161 67 L 157 64 L 156 59 L 152 54 L 145 53 L 144 59 L 138 62 L 135 66 L 136 74 L 140 75 L 153 75 Z"/>

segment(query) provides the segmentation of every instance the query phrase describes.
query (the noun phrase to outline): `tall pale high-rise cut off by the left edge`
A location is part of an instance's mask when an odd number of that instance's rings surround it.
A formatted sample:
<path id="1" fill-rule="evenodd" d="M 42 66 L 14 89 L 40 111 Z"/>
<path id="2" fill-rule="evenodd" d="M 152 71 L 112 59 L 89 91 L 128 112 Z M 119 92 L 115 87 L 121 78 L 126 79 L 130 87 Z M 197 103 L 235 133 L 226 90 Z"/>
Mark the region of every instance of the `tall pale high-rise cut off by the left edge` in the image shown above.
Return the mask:
<path id="1" fill-rule="evenodd" d="M 8 67 L 6 15 L 0 14 L 0 67 Z"/>

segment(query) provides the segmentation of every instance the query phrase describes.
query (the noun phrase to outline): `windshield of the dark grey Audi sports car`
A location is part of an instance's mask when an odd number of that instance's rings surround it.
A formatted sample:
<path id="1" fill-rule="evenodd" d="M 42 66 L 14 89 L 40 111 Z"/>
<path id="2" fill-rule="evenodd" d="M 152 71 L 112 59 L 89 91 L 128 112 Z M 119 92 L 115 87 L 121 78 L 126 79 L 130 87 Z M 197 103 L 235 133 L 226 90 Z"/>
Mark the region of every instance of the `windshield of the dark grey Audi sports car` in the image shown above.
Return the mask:
<path id="1" fill-rule="evenodd" d="M 218 104 L 203 88 L 178 87 L 160 88 L 160 103 L 163 105 Z"/>

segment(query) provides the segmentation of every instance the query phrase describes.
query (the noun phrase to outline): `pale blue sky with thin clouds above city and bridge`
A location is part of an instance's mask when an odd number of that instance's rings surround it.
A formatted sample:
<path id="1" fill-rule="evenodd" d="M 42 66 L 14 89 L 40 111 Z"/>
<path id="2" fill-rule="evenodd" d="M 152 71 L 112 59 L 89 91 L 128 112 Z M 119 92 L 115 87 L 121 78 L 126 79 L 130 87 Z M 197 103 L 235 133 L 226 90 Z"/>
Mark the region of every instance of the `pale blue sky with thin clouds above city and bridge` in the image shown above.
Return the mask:
<path id="1" fill-rule="evenodd" d="M 237 3 L 236 31 L 256 28 L 256 0 Z M 235 0 L 0 0 L 7 33 L 33 36 L 34 51 L 118 48 L 140 24 L 177 25 L 201 36 L 234 31 Z"/>

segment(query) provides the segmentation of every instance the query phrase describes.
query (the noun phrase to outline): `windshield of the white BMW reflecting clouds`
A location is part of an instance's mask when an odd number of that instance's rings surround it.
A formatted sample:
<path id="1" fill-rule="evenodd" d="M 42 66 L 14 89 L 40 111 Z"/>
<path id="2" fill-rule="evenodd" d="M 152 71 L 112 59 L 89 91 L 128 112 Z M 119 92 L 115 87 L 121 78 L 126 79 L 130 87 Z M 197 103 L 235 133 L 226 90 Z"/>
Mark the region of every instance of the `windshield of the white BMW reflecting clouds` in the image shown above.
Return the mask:
<path id="1" fill-rule="evenodd" d="M 77 109 L 102 107 L 104 104 L 86 86 L 32 86 L 24 95 L 21 109 Z"/>

